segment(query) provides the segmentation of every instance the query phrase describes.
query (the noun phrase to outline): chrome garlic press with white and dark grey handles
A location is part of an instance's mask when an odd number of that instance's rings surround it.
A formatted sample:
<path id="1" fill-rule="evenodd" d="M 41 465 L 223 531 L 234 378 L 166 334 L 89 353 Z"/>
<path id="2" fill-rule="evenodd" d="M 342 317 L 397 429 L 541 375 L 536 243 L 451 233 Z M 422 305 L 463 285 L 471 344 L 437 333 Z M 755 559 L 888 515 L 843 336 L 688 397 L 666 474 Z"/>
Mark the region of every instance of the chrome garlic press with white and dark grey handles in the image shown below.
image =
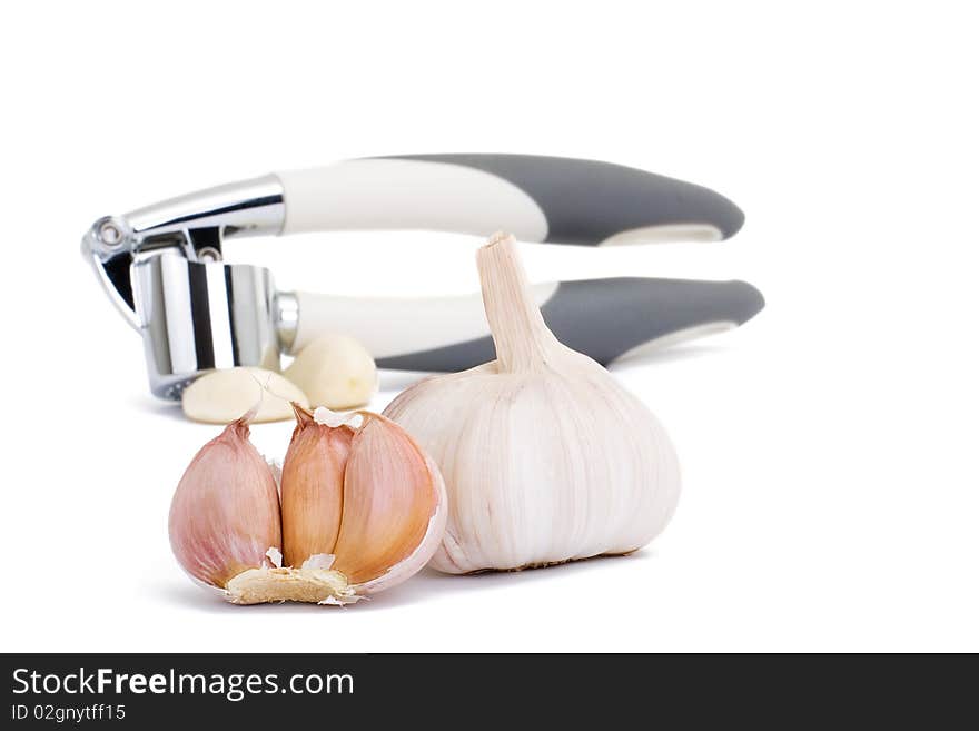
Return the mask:
<path id="1" fill-rule="evenodd" d="M 324 332 L 379 367 L 459 371 L 494 357 L 478 294 L 421 298 L 279 292 L 221 260 L 226 240 L 300 231 L 426 229 L 600 246 L 716 240 L 744 217 L 706 188 L 620 165 L 524 155 L 365 158 L 277 172 L 98 219 L 82 239 L 109 299 L 144 342 L 150 389 L 178 399 L 214 368 L 278 369 Z M 536 285 L 558 339 L 607 365 L 738 326 L 764 305 L 743 281 L 616 277 Z"/>

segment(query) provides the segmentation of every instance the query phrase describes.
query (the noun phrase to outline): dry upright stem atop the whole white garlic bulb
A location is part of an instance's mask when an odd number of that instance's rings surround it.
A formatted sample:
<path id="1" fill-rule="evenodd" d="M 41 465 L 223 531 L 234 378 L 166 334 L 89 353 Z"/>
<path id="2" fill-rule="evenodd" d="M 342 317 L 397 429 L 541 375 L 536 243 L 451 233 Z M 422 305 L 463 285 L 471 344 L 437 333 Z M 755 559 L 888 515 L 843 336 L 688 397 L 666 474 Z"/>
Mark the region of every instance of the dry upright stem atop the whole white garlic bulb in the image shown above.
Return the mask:
<path id="1" fill-rule="evenodd" d="M 494 234 L 476 253 L 476 265 L 500 372 L 540 368 L 555 346 L 563 346 L 547 329 L 531 296 L 513 236 Z"/>

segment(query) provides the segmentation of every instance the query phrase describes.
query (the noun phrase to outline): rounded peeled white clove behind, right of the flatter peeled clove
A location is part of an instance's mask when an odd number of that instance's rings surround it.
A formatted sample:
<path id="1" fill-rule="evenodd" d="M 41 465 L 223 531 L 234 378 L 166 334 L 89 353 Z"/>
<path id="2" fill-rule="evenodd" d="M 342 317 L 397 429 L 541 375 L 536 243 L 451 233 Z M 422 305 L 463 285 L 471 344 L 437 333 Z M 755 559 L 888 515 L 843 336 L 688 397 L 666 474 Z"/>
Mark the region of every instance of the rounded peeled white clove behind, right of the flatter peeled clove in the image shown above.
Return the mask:
<path id="1" fill-rule="evenodd" d="M 285 371 L 317 406 L 367 404 L 377 392 L 377 366 L 367 349 L 346 335 L 323 335 L 304 347 Z"/>

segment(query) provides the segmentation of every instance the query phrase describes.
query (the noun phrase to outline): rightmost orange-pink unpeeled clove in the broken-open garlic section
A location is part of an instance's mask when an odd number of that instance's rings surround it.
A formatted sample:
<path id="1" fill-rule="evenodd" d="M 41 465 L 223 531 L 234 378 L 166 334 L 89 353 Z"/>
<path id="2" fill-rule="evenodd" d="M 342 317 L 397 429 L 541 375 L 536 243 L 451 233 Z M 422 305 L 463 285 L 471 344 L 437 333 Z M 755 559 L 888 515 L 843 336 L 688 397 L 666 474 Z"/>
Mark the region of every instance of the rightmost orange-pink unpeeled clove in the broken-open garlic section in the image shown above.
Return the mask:
<path id="1" fill-rule="evenodd" d="M 445 527 L 445 485 L 400 426 L 362 413 L 344 476 L 336 563 L 359 593 L 387 589 L 432 557 Z"/>

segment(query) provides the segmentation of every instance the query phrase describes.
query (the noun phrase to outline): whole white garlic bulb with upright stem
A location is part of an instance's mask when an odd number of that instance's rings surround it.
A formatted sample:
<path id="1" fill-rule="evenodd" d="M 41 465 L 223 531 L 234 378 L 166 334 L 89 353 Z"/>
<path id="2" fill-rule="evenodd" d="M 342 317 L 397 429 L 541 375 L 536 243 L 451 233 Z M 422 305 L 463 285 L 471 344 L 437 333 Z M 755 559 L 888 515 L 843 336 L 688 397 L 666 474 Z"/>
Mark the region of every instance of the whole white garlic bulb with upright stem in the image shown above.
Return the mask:
<path id="1" fill-rule="evenodd" d="M 449 515 L 431 565 L 511 570 L 645 545 L 680 494 L 656 418 L 554 337 L 512 237 L 477 254 L 496 360 L 432 376 L 385 409 L 435 458 Z"/>

